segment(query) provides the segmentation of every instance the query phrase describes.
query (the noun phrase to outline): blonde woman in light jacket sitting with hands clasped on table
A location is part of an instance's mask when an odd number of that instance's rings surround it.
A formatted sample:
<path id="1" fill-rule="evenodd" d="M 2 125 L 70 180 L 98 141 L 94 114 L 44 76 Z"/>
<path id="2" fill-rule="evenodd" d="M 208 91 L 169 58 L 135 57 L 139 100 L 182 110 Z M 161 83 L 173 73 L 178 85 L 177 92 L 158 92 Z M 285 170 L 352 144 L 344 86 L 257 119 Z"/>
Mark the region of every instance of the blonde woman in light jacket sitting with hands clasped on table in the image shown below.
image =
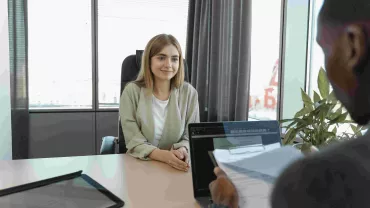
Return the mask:
<path id="1" fill-rule="evenodd" d="M 120 117 L 127 153 L 188 171 L 188 124 L 199 122 L 198 93 L 184 82 L 180 45 L 172 35 L 145 47 L 136 81 L 122 92 Z"/>

